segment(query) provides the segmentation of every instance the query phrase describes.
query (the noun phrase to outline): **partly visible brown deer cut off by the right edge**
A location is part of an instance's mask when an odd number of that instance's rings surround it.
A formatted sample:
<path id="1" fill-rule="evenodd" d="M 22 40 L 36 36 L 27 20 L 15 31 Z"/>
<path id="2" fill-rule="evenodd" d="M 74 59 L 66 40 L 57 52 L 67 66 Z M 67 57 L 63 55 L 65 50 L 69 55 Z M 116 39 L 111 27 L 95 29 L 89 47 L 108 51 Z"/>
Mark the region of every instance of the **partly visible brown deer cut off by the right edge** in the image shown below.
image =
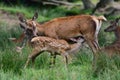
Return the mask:
<path id="1" fill-rule="evenodd" d="M 105 32 L 114 32 L 116 40 L 109 46 L 102 48 L 102 51 L 107 52 L 107 54 L 112 57 L 115 54 L 120 55 L 120 26 L 118 25 L 120 18 L 111 22 L 111 25 L 105 29 Z"/>

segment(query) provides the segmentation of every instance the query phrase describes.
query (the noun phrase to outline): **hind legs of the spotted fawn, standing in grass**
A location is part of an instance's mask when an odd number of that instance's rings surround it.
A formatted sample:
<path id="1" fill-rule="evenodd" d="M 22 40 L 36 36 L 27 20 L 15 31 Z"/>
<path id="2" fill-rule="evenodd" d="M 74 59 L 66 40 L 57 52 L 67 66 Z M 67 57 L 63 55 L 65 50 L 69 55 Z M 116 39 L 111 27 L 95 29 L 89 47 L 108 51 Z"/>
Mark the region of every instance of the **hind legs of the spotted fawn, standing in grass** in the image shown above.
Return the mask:
<path id="1" fill-rule="evenodd" d="M 39 49 L 34 49 L 34 50 L 32 51 L 32 53 L 28 56 L 28 59 L 27 59 L 27 61 L 26 61 L 26 64 L 25 64 L 24 68 L 27 67 L 27 65 L 29 64 L 30 60 L 32 60 L 32 65 L 34 65 L 35 58 L 36 58 L 38 55 L 40 55 L 40 53 L 41 53 L 41 52 L 40 52 Z"/>

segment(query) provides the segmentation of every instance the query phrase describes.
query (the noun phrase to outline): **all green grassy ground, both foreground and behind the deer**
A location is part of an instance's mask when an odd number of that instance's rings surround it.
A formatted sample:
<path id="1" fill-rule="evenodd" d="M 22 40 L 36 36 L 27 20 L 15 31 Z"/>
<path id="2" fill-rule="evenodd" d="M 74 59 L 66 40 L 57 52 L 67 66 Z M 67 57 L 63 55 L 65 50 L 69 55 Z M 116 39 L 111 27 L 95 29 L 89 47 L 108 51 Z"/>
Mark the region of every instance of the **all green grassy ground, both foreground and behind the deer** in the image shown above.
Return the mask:
<path id="1" fill-rule="evenodd" d="M 34 13 L 34 8 L 31 7 L 7 7 L 0 5 L 0 9 L 15 14 L 22 12 L 27 18 L 30 18 Z M 40 9 L 38 21 L 46 21 L 54 17 L 65 16 L 64 8 L 55 9 Z M 86 13 L 83 12 L 83 13 Z M 89 11 L 87 12 L 89 13 Z M 114 40 L 112 33 L 105 33 L 103 29 L 108 24 L 103 23 L 99 42 L 100 46 L 105 46 Z M 9 37 L 18 37 L 21 33 L 19 26 L 12 26 L 6 23 L 0 23 L 0 80 L 120 80 L 120 57 L 109 59 L 107 57 L 100 57 L 97 68 L 98 72 L 94 74 L 92 70 L 92 52 L 88 48 L 83 48 L 77 53 L 65 68 L 62 58 L 57 57 L 54 68 L 49 68 L 49 55 L 47 52 L 40 55 L 35 62 L 35 67 L 29 65 L 23 69 L 28 54 L 31 48 L 25 47 L 23 54 L 15 52 L 14 44 L 8 40 Z"/>

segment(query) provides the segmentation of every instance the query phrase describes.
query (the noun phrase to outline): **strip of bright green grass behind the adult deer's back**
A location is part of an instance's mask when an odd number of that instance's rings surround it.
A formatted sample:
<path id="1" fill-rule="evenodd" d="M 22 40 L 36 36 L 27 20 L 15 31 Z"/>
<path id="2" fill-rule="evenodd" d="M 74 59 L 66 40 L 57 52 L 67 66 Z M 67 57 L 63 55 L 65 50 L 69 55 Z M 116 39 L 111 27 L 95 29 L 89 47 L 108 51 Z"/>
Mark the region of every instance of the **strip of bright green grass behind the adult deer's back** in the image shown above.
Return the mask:
<path id="1" fill-rule="evenodd" d="M 75 10 L 76 9 L 76 10 Z M 22 13 L 27 18 L 31 18 L 35 11 L 38 11 L 39 18 L 38 21 L 47 21 L 52 18 L 65 16 L 67 13 L 78 14 L 79 8 L 74 8 L 72 10 L 68 10 L 67 8 L 61 7 L 47 7 L 47 8 L 36 8 L 36 7 L 25 7 L 25 6 L 7 6 L 5 4 L 0 3 L 0 10 L 7 11 L 11 14 Z M 65 13 L 66 12 L 66 13 Z"/>

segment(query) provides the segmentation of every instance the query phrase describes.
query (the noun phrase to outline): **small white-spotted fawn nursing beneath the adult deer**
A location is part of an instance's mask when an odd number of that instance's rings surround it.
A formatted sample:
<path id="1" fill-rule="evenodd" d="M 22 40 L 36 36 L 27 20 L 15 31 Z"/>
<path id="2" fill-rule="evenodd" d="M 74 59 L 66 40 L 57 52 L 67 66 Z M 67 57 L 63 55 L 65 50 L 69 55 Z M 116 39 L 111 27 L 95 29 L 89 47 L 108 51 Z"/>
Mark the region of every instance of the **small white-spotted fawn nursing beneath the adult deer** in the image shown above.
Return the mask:
<path id="1" fill-rule="evenodd" d="M 61 55 L 63 56 L 64 62 L 67 66 L 69 54 L 76 52 L 76 50 L 79 50 L 82 46 L 83 41 L 84 40 L 82 38 L 79 38 L 76 40 L 77 43 L 68 44 L 68 42 L 65 40 L 43 36 L 34 37 L 31 40 L 33 51 L 26 61 L 25 68 L 27 67 L 30 60 L 32 60 L 32 63 L 34 63 L 36 57 L 40 55 L 43 51 L 48 51 L 51 53 L 51 58 L 53 58 L 51 64 L 55 64 L 56 55 Z"/>

